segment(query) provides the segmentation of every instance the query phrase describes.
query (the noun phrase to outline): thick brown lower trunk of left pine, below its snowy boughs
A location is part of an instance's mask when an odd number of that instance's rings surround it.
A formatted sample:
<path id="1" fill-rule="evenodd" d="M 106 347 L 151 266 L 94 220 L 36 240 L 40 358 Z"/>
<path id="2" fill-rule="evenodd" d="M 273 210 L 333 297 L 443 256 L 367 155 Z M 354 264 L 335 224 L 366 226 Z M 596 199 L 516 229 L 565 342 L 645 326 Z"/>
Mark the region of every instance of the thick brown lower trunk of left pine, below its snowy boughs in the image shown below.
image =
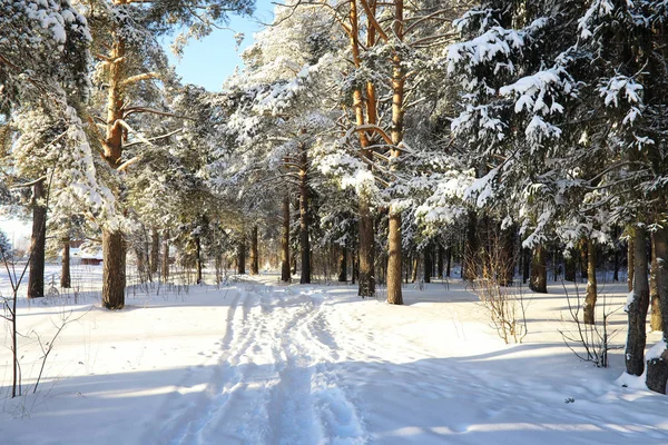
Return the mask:
<path id="1" fill-rule="evenodd" d="M 102 306 L 117 310 L 125 306 L 126 243 L 121 231 L 102 230 Z"/>

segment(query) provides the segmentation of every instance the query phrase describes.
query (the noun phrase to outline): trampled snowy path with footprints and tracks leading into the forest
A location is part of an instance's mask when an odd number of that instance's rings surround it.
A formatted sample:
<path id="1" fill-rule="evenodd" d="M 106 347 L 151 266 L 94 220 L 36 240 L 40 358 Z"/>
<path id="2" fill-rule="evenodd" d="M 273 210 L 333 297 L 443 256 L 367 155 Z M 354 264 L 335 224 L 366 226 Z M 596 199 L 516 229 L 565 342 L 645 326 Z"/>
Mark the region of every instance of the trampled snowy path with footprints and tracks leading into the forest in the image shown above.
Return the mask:
<path id="1" fill-rule="evenodd" d="M 363 443 L 365 432 L 328 364 L 337 358 L 322 296 L 247 286 L 233 297 L 222 357 L 199 399 L 171 398 L 146 443 Z M 184 387 L 187 386 L 183 382 Z"/>

